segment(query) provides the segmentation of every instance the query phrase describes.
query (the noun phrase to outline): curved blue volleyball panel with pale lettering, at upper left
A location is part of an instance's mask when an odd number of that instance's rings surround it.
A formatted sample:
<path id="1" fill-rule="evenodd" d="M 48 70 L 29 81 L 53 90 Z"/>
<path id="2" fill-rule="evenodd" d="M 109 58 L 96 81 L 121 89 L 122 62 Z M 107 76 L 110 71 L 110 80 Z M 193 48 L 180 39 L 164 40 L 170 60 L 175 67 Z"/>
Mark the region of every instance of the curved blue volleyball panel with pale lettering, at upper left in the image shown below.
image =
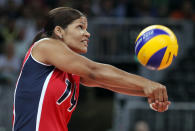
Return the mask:
<path id="1" fill-rule="evenodd" d="M 145 32 L 143 35 L 141 35 L 140 38 L 138 38 L 138 40 L 136 41 L 136 47 L 135 47 L 136 55 L 138 54 L 142 46 L 144 46 L 150 39 L 158 35 L 169 35 L 169 34 L 161 29 L 152 29 Z"/>

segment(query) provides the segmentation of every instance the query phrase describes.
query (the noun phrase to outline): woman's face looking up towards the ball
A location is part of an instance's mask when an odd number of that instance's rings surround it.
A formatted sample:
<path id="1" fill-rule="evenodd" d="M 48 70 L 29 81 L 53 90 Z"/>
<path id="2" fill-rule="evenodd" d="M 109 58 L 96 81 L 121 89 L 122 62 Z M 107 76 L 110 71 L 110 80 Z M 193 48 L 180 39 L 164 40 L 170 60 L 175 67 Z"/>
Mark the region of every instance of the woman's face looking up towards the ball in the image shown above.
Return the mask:
<path id="1" fill-rule="evenodd" d="M 87 19 L 81 17 L 67 26 L 62 34 L 64 42 L 73 51 L 87 53 L 90 34 L 87 32 Z"/>

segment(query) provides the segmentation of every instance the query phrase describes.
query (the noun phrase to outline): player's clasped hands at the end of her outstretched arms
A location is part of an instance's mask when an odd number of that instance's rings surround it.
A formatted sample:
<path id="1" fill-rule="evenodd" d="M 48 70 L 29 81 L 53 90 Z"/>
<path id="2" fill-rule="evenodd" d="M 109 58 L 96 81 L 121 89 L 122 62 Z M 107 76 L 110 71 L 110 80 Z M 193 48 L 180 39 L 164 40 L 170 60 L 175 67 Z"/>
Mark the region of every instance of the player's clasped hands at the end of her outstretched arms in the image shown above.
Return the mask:
<path id="1" fill-rule="evenodd" d="M 148 87 L 144 88 L 144 92 L 148 97 L 148 103 L 150 104 L 151 109 L 158 112 L 164 112 L 168 110 L 168 106 L 171 104 L 171 102 L 168 101 L 168 95 L 165 86 L 152 82 Z"/>

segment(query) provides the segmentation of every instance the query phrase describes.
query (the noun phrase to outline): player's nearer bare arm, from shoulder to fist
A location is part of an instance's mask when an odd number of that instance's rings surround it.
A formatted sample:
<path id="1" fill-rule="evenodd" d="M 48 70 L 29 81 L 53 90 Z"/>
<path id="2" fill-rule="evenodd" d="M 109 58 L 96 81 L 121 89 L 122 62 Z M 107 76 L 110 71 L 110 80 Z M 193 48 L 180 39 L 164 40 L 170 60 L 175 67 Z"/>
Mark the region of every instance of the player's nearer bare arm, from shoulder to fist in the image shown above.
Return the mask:
<path id="1" fill-rule="evenodd" d="M 128 89 L 142 91 L 150 98 L 151 103 L 167 102 L 168 96 L 165 86 L 120 70 L 112 65 L 101 64 L 87 59 L 72 51 L 65 43 L 45 39 L 32 50 L 33 56 L 40 62 L 51 64 L 58 69 L 79 75 L 85 83 L 99 87 L 109 87 L 110 90 Z"/>

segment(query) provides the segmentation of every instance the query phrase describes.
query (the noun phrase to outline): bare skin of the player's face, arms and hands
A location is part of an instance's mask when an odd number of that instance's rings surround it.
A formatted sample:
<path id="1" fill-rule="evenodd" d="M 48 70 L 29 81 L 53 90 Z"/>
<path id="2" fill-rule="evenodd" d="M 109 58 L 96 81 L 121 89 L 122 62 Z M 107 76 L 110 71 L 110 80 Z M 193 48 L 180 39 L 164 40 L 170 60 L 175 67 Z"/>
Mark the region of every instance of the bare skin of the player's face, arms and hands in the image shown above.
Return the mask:
<path id="1" fill-rule="evenodd" d="M 87 52 L 89 37 L 87 19 L 81 17 L 65 29 L 56 26 L 51 38 L 36 42 L 38 44 L 33 47 L 32 55 L 42 63 L 79 75 L 81 84 L 85 86 L 147 97 L 153 110 L 167 110 L 170 101 L 164 85 L 80 55 Z"/>

